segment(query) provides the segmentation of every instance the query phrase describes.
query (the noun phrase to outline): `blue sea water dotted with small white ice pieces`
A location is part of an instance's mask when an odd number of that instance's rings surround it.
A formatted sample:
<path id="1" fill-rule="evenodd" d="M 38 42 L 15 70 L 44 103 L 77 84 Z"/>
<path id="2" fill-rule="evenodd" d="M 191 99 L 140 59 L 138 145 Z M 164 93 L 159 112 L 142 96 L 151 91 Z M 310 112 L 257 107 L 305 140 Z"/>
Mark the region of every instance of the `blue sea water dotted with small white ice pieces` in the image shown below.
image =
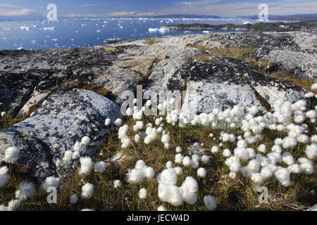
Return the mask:
<path id="1" fill-rule="evenodd" d="M 156 30 L 149 32 L 149 28 L 159 28 L 163 25 L 191 23 L 241 25 L 245 21 L 237 18 L 61 18 L 54 23 L 49 23 L 47 20 L 0 20 L 0 50 L 83 48 L 103 44 L 106 42 L 105 39 L 137 39 L 202 33 L 198 30 Z M 259 23 L 259 20 L 248 21 Z M 228 31 L 213 30 L 212 32 Z"/>

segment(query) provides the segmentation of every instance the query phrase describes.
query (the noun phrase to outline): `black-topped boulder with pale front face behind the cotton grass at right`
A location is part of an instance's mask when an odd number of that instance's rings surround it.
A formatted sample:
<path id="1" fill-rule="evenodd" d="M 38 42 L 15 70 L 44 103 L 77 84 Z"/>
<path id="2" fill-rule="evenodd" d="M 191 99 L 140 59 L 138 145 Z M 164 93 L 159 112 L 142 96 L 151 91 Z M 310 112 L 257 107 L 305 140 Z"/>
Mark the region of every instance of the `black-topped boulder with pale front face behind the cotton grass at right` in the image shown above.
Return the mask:
<path id="1" fill-rule="evenodd" d="M 238 105 L 247 111 L 252 105 L 271 110 L 274 101 L 295 102 L 304 98 L 304 89 L 267 77 L 251 65 L 234 58 L 211 58 L 211 63 L 162 60 L 149 76 L 147 90 L 187 90 L 182 112 L 197 105 L 197 113 L 211 113 Z"/>

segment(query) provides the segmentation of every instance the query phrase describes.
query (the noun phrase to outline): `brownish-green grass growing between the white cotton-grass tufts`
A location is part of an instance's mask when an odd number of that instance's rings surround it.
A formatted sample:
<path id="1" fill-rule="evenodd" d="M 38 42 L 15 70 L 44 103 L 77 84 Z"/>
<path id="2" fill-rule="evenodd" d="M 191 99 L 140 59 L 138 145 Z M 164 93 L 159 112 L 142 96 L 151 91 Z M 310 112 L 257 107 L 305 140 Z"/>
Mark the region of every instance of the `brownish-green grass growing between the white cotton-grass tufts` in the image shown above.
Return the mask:
<path id="1" fill-rule="evenodd" d="M 145 117 L 144 124 L 147 122 L 154 123 L 154 117 Z M 131 118 L 125 118 L 125 124 L 128 124 L 130 129 L 128 136 L 134 140 L 134 133 L 131 131 L 132 125 L 135 123 Z M 311 127 L 316 127 L 316 124 L 311 124 Z M 166 131 L 170 132 L 170 148 L 168 150 L 163 148 L 160 139 L 152 142 L 149 146 L 142 141 L 135 143 L 129 148 L 120 149 L 120 141 L 118 134 L 113 134 L 104 140 L 99 153 L 93 158 L 94 162 L 100 160 L 106 161 L 111 156 L 118 152 L 125 156 L 117 165 L 113 162 L 108 162 L 106 172 L 99 174 L 91 172 L 86 176 L 80 176 L 78 169 L 70 174 L 66 179 L 61 181 L 58 188 L 58 203 L 46 203 L 47 194 L 43 191 L 37 191 L 34 198 L 29 199 L 21 205 L 19 210 L 81 210 L 82 208 L 92 208 L 94 210 L 157 210 L 159 205 L 163 205 L 167 210 L 206 210 L 204 207 L 204 195 L 213 195 L 218 203 L 216 210 L 303 210 L 315 203 L 317 203 L 316 195 L 311 191 L 316 190 L 317 172 L 316 160 L 313 161 L 315 170 L 311 175 L 292 174 L 291 186 L 285 188 L 276 179 L 268 179 L 262 186 L 268 188 L 270 199 L 267 204 L 259 203 L 259 195 L 253 191 L 253 183 L 250 179 L 238 174 L 237 179 L 230 179 L 227 174 L 230 172 L 225 166 L 223 155 L 220 153 L 213 155 L 210 152 L 212 146 L 218 146 L 220 143 L 220 129 L 213 129 L 211 127 L 192 127 L 187 125 L 185 128 L 172 126 L 166 124 Z M 236 136 L 242 135 L 241 131 L 231 130 Z M 311 131 L 316 134 L 316 131 Z M 209 137 L 213 133 L 216 141 Z M 273 141 L 277 137 L 284 137 L 286 134 L 264 130 L 263 141 L 250 145 L 249 147 L 256 149 L 261 143 L 265 143 L 268 149 L 273 146 Z M 182 146 L 182 155 L 189 155 L 187 148 L 192 146 L 194 142 L 204 143 L 200 150 L 206 155 L 209 155 L 210 161 L 207 165 L 201 165 L 207 170 L 207 176 L 203 179 L 197 178 L 196 169 L 191 167 L 183 167 L 182 165 L 175 165 L 175 147 Z M 230 148 L 232 151 L 235 148 L 235 143 L 225 143 L 221 148 Z M 304 146 L 299 146 L 294 150 L 290 150 L 294 154 L 295 161 L 304 156 Z M 102 153 L 102 155 L 100 154 Z M 158 183 L 156 179 L 144 180 L 139 184 L 130 185 L 127 182 L 129 168 L 135 167 L 137 160 L 144 160 L 147 166 L 153 167 L 156 174 L 161 172 L 168 160 L 173 162 L 173 166 L 180 166 L 183 169 L 183 174 L 178 176 L 177 185 L 180 186 L 186 176 L 193 176 L 199 184 L 199 191 L 197 193 L 198 200 L 194 205 L 184 203 L 180 207 L 173 207 L 168 203 L 163 203 L 159 200 Z M 285 164 L 279 165 L 286 167 Z M 18 183 L 25 179 L 25 176 L 15 173 L 16 169 L 11 166 L 11 181 L 6 186 L 0 188 L 0 204 L 6 204 L 13 198 L 14 191 L 17 190 Z M 113 188 L 113 181 L 120 179 L 123 185 L 118 190 Z M 79 200 L 77 205 L 70 205 L 68 198 L 73 193 L 81 194 L 81 187 L 85 183 L 94 185 L 93 197 L 89 200 Z M 148 195 L 144 200 L 138 198 L 140 188 L 147 188 Z"/>

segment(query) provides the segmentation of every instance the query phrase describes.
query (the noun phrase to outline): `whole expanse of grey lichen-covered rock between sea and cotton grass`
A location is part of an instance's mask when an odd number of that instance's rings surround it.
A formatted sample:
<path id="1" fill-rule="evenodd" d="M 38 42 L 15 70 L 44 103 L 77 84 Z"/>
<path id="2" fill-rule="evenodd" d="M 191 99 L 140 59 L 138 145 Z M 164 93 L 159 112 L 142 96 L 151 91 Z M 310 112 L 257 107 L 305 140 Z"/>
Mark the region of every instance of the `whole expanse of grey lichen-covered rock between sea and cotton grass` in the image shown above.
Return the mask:
<path id="1" fill-rule="evenodd" d="M 122 117 L 120 94 L 135 92 L 138 84 L 144 90 L 185 89 L 188 99 L 197 91 L 199 113 L 234 105 L 245 110 L 256 105 L 265 112 L 275 100 L 304 98 L 301 87 L 268 77 L 242 60 L 216 56 L 199 62 L 214 49 L 252 47 L 257 61 L 269 61 L 297 79 L 317 80 L 314 32 L 192 34 L 146 41 L 0 51 L 0 110 L 23 117 L 35 108 L 26 120 L 0 131 L 0 162 L 14 144 L 22 153 L 14 163 L 32 176 L 65 174 L 69 167 L 60 162 L 66 150 L 89 136 L 92 141 L 83 154 L 94 155 L 110 129 L 104 120 Z M 98 94 L 96 86 L 106 94 Z M 182 112 L 186 110 L 183 105 Z"/>

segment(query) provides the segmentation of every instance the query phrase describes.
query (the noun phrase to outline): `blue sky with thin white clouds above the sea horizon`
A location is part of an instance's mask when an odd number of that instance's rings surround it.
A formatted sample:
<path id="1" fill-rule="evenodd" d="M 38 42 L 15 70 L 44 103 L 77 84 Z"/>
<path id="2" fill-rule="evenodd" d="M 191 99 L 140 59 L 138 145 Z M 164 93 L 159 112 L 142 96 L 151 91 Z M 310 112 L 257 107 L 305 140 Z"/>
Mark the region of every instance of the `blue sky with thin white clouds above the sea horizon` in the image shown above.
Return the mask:
<path id="1" fill-rule="evenodd" d="M 164 14 L 257 15 L 259 4 L 268 4 L 271 15 L 317 13 L 316 0 L 0 0 L 0 15 L 46 15 L 46 6 L 56 4 L 58 16 L 112 16 Z"/>

